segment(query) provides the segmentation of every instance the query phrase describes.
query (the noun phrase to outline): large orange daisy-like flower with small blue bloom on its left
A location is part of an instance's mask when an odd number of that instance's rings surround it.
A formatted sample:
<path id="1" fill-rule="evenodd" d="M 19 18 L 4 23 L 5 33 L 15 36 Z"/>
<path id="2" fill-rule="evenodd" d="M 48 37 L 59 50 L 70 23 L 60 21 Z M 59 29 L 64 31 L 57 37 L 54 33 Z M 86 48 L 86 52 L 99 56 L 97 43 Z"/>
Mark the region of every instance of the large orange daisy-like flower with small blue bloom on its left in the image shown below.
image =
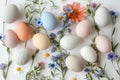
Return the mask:
<path id="1" fill-rule="evenodd" d="M 67 13 L 68 18 L 73 22 L 78 23 L 83 20 L 86 16 L 86 8 L 81 7 L 79 3 L 74 2 L 73 4 L 67 4 L 63 8 L 64 12 Z"/>

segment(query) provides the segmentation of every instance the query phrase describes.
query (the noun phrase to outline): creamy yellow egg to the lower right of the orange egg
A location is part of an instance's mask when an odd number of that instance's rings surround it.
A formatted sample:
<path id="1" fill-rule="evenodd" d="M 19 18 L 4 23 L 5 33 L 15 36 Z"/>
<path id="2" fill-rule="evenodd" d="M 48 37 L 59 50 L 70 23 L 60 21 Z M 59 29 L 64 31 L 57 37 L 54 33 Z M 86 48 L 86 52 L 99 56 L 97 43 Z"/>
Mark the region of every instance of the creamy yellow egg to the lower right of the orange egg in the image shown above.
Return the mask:
<path id="1" fill-rule="evenodd" d="M 37 33 L 32 38 L 33 44 L 37 49 L 45 50 L 50 46 L 50 41 L 48 36 Z"/>

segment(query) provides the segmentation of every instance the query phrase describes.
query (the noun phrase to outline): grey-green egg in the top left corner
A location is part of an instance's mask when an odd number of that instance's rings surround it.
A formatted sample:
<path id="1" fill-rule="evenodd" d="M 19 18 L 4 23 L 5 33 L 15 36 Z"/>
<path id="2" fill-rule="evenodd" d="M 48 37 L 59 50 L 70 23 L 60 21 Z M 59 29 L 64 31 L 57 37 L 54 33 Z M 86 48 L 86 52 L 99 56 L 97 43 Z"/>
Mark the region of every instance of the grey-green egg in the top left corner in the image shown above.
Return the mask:
<path id="1" fill-rule="evenodd" d="M 19 17 L 19 10 L 16 5 L 14 4 L 9 4 L 5 8 L 5 13 L 4 13 L 4 21 L 6 23 L 12 23 L 16 21 L 16 19 Z"/>

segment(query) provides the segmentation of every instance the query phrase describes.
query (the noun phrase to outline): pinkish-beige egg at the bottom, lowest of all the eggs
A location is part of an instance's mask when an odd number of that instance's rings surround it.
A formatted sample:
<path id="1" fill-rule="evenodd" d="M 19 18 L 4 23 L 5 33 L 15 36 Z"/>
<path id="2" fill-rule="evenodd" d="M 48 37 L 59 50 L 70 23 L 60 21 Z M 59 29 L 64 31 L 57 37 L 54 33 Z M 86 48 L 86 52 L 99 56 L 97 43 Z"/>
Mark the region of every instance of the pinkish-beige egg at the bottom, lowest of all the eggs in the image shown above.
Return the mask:
<path id="1" fill-rule="evenodd" d="M 80 72 L 83 70 L 84 67 L 82 59 L 75 55 L 68 56 L 65 63 L 67 68 L 73 72 Z"/>

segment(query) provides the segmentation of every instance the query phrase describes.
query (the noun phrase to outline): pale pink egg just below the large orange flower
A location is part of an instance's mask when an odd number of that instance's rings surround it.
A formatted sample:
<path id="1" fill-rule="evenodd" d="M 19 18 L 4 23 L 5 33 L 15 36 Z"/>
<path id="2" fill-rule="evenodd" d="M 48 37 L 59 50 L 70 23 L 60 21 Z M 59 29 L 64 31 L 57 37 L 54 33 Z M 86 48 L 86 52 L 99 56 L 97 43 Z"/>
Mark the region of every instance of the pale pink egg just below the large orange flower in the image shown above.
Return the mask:
<path id="1" fill-rule="evenodd" d="M 89 36 L 90 33 L 92 32 L 92 25 L 93 23 L 90 20 L 86 19 L 86 20 L 81 21 L 76 27 L 77 36 L 79 36 L 82 39 Z"/>

